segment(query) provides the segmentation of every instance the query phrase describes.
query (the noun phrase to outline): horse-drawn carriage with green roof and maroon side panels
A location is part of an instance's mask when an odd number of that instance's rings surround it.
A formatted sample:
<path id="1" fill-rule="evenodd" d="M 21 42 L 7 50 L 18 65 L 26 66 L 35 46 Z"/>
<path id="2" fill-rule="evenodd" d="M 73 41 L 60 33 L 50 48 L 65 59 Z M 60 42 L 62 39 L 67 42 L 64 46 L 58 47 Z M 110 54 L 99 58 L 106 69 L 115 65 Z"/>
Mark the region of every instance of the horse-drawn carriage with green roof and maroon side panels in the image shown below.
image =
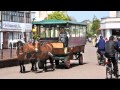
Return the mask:
<path id="1" fill-rule="evenodd" d="M 60 60 L 66 68 L 70 68 L 70 60 L 78 60 L 79 64 L 83 64 L 82 52 L 84 53 L 87 29 L 85 24 L 63 20 L 43 20 L 32 24 L 37 27 L 40 42 L 50 42 L 53 45 L 51 54 L 56 65 L 60 64 Z M 64 45 L 66 42 L 60 41 L 61 27 L 64 27 L 67 34 L 67 46 Z"/>

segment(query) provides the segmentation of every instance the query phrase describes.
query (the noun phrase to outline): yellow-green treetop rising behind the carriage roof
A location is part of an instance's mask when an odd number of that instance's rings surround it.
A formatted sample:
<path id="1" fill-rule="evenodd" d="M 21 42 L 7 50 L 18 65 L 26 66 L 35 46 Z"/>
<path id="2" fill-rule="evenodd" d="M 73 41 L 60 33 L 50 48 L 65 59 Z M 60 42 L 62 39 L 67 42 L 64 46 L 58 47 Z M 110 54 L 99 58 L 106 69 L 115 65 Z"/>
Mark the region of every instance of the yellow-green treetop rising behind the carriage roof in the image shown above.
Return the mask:
<path id="1" fill-rule="evenodd" d="M 54 20 L 68 20 L 68 21 L 70 21 L 70 17 L 64 15 L 64 13 L 61 12 L 61 11 L 55 11 L 52 14 L 49 14 L 47 18 L 45 18 L 45 20 L 50 20 L 50 19 L 54 19 Z"/>

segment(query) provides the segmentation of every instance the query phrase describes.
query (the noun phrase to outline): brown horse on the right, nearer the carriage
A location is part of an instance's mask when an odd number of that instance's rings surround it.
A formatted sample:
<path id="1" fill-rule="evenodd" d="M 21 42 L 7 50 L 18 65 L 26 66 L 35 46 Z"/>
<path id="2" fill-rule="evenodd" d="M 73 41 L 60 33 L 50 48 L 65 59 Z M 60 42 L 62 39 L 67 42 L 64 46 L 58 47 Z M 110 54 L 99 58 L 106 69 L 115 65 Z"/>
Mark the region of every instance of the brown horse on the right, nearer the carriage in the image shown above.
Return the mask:
<path id="1" fill-rule="evenodd" d="M 51 43 L 44 43 L 41 45 L 40 42 L 35 43 L 35 50 L 36 52 L 36 58 L 38 59 L 38 66 L 39 68 L 43 68 L 44 71 L 47 71 L 46 67 L 46 61 L 49 59 L 50 63 L 52 65 L 52 69 L 55 70 L 55 65 L 53 63 L 53 55 L 52 55 L 52 50 L 53 50 L 53 45 Z"/>

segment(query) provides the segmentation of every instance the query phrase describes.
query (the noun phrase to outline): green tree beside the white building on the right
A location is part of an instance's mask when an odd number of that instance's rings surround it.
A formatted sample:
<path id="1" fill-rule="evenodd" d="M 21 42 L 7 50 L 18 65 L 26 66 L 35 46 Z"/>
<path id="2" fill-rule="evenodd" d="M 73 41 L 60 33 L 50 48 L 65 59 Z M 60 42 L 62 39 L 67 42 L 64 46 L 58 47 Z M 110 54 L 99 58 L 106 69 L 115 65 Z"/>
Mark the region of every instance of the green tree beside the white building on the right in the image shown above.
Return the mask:
<path id="1" fill-rule="evenodd" d="M 98 34 L 99 28 L 100 28 L 100 20 L 94 17 L 92 22 L 92 27 L 91 27 L 93 34 Z"/>

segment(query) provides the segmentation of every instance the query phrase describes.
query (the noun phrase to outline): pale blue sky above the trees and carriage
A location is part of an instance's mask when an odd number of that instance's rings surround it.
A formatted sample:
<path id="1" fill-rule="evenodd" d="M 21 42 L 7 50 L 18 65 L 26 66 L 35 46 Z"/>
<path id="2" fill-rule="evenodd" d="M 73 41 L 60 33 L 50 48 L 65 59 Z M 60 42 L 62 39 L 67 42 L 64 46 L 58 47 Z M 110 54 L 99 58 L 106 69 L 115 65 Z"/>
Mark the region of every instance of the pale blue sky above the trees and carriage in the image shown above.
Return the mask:
<path id="1" fill-rule="evenodd" d="M 101 19 L 109 16 L 109 11 L 67 11 L 69 16 L 73 16 L 78 22 L 92 20 L 94 15 Z"/>

